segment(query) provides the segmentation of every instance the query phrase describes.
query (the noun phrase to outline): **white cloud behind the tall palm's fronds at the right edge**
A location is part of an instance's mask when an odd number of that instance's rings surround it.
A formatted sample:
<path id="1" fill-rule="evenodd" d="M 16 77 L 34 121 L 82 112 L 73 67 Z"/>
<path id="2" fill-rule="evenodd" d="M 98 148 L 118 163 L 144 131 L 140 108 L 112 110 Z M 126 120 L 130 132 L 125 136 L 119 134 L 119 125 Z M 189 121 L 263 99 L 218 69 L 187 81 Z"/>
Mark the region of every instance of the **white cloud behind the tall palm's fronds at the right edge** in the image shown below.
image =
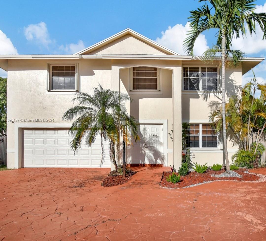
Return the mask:
<path id="1" fill-rule="evenodd" d="M 255 9 L 256 13 L 266 13 L 266 2 L 262 5 L 257 5 Z M 250 35 L 247 24 L 245 24 L 247 30 L 244 39 L 242 37 L 232 40 L 232 49 L 242 50 L 246 54 L 259 53 L 260 51 L 266 51 L 266 40 L 263 38 L 263 32 L 260 29 L 259 24 L 256 24 L 256 34 Z"/>

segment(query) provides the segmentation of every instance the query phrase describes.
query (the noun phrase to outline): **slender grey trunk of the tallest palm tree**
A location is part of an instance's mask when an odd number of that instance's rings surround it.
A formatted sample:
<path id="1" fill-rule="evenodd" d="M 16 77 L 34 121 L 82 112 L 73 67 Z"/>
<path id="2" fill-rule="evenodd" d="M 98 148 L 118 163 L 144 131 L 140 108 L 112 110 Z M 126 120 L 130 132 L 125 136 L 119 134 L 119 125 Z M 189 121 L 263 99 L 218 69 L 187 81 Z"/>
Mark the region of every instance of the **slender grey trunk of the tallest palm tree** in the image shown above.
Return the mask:
<path id="1" fill-rule="evenodd" d="M 225 152 L 226 170 L 230 170 L 228 151 L 227 151 L 227 138 L 226 138 L 226 122 L 225 122 L 225 46 L 226 36 L 222 36 L 222 118 L 223 118 L 223 150 Z"/>

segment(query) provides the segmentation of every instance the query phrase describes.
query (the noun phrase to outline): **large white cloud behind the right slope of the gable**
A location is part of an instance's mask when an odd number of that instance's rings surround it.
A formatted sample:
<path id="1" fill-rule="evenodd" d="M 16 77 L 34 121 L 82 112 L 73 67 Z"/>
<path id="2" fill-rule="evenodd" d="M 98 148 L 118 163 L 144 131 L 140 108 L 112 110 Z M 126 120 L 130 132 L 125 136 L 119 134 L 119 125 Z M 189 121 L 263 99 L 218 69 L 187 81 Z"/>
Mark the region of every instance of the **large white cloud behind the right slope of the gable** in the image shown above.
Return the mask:
<path id="1" fill-rule="evenodd" d="M 185 26 L 182 24 L 176 24 L 174 27 L 169 26 L 165 32 L 161 32 L 162 36 L 156 38 L 156 42 L 168 47 L 177 53 L 186 54 L 183 49 L 183 41 L 187 37 L 187 33 L 190 30 L 190 22 L 187 22 Z M 202 55 L 209 46 L 204 34 L 200 34 L 194 45 L 194 55 Z"/>

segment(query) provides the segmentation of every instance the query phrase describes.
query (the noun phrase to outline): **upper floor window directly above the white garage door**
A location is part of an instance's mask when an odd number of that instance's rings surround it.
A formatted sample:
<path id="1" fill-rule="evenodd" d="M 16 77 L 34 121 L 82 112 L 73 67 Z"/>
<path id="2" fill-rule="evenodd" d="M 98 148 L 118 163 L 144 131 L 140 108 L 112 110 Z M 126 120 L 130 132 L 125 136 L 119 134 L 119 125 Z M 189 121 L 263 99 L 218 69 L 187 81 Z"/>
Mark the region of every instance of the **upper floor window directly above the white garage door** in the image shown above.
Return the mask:
<path id="1" fill-rule="evenodd" d="M 48 90 L 77 91 L 77 64 L 51 64 Z"/>

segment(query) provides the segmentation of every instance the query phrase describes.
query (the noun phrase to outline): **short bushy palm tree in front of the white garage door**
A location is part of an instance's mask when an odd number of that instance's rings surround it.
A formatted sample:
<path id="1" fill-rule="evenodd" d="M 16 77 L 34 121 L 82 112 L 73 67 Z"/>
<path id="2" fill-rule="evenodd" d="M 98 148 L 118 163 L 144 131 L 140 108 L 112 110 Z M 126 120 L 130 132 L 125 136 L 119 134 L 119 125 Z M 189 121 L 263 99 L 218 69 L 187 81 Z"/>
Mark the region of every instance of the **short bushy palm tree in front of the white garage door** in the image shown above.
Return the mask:
<path id="1" fill-rule="evenodd" d="M 101 137 L 101 164 L 104 162 L 105 151 L 103 141 L 109 141 L 110 158 L 117 170 L 115 160 L 115 145 L 119 148 L 119 132 L 122 133 L 127 145 L 132 144 L 132 139 L 137 142 L 138 123 L 128 115 L 124 103 L 131 101 L 128 94 L 118 91 L 103 89 L 99 84 L 94 88 L 94 94 L 79 92 L 73 99 L 77 106 L 68 109 L 63 120 L 71 121 L 73 119 L 69 133 L 74 136 L 70 143 L 71 149 L 76 152 L 80 147 L 82 140 L 85 139 L 85 145 L 91 147 L 96 137 Z M 120 125 L 120 119 L 124 119 L 126 125 Z"/>

